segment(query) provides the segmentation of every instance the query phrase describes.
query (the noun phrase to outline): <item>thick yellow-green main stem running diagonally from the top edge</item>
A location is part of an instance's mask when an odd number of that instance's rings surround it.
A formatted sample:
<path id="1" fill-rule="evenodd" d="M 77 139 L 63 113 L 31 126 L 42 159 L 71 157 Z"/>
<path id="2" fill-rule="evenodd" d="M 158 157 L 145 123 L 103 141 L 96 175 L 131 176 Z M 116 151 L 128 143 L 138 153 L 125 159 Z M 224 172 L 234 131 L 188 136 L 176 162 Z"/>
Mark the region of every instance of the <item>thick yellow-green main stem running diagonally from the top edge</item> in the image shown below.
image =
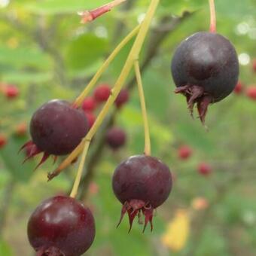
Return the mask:
<path id="1" fill-rule="evenodd" d="M 67 166 L 69 166 L 70 163 L 72 163 L 72 160 L 74 160 L 75 157 L 78 157 L 78 155 L 84 148 L 85 142 L 87 142 L 88 140 L 90 141 L 93 138 L 94 134 L 98 130 L 102 121 L 104 120 L 106 114 L 108 114 L 109 108 L 111 107 L 111 105 L 113 105 L 114 100 L 117 98 L 121 88 L 123 87 L 123 84 L 126 81 L 126 78 L 130 74 L 131 69 L 133 69 L 134 62 L 136 61 L 136 59 L 139 59 L 139 53 L 142 49 L 142 44 L 145 41 L 145 37 L 148 33 L 151 20 L 154 17 L 154 13 L 157 9 L 159 2 L 160 0 L 151 0 L 151 4 L 149 5 L 147 14 L 145 15 L 145 20 L 141 24 L 138 35 L 136 37 L 136 41 L 133 43 L 133 47 L 130 50 L 129 56 L 127 57 L 123 69 L 120 72 L 119 77 L 117 78 L 117 82 L 114 84 L 114 88 L 111 91 L 111 96 L 108 98 L 108 101 L 105 103 L 104 107 L 102 108 L 102 111 L 99 113 L 89 133 L 87 133 L 87 136 L 82 140 L 78 147 L 75 148 L 74 151 L 72 151 L 72 154 L 70 154 L 69 157 L 67 157 L 53 173 L 48 175 L 49 179 L 58 175 L 59 172 L 62 171 L 62 169 L 65 169 Z"/>

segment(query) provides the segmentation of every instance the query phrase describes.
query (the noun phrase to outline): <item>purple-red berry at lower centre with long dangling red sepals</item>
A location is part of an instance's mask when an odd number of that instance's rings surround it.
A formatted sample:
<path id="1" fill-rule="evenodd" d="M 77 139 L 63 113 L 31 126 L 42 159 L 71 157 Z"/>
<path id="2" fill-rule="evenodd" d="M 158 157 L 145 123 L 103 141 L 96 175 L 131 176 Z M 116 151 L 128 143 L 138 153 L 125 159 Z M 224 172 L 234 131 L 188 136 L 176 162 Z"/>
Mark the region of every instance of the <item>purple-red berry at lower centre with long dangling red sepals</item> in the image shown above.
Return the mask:
<path id="1" fill-rule="evenodd" d="M 120 163 L 112 178 L 114 194 L 123 204 L 120 222 L 128 213 L 130 230 L 136 215 L 145 215 L 153 229 L 153 212 L 169 197 L 172 189 L 172 175 L 168 166 L 155 157 L 136 155 Z M 129 232 L 130 232 L 129 230 Z M 143 230 L 143 232 L 144 232 Z"/>

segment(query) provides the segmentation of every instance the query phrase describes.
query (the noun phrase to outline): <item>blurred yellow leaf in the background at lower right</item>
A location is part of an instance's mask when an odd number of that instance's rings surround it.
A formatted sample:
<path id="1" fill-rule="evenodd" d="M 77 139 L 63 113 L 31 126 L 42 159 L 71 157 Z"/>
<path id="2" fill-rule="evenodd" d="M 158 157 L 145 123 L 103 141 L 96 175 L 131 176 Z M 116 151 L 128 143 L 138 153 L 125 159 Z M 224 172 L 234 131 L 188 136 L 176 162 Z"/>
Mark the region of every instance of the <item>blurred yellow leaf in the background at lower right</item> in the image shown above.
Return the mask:
<path id="1" fill-rule="evenodd" d="M 190 232 L 190 218 L 187 210 L 178 209 L 175 217 L 168 224 L 166 233 L 162 236 L 162 242 L 173 251 L 181 251 L 186 245 Z"/>

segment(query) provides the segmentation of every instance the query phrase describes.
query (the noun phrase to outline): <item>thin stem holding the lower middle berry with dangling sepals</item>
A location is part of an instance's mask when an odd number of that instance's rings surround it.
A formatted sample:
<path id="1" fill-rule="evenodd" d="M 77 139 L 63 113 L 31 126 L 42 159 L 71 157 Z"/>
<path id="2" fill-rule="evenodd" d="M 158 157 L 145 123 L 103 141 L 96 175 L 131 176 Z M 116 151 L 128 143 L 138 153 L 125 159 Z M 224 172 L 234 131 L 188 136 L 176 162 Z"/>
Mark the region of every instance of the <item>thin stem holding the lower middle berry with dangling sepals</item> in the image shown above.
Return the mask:
<path id="1" fill-rule="evenodd" d="M 137 81 L 137 84 L 138 84 L 139 99 L 140 99 L 140 102 L 141 102 L 142 118 L 143 118 L 143 123 L 144 123 L 144 134 L 145 134 L 144 154 L 147 155 L 147 156 L 150 156 L 151 155 L 151 138 L 150 138 L 150 133 L 149 133 L 148 114 L 147 114 L 145 96 L 144 96 L 143 85 L 142 85 L 142 75 L 141 75 L 141 72 L 139 70 L 139 61 L 138 60 L 136 60 L 134 62 L 134 69 L 135 69 L 135 74 L 136 74 L 136 81 Z"/>

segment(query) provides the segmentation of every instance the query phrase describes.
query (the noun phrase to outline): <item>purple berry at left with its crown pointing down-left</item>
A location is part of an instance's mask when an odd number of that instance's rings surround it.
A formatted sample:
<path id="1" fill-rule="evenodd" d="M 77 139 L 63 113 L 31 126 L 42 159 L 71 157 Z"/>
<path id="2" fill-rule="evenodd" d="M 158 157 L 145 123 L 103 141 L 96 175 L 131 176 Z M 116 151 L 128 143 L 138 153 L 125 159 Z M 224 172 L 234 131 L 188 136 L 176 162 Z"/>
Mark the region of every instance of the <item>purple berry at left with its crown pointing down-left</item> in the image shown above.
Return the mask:
<path id="1" fill-rule="evenodd" d="M 86 136 L 87 117 L 83 111 L 73 108 L 69 102 L 54 99 L 45 103 L 32 116 L 30 134 L 32 141 L 23 145 L 29 148 L 28 160 L 44 152 L 39 163 L 43 163 L 50 154 L 59 156 L 71 153 Z"/>

